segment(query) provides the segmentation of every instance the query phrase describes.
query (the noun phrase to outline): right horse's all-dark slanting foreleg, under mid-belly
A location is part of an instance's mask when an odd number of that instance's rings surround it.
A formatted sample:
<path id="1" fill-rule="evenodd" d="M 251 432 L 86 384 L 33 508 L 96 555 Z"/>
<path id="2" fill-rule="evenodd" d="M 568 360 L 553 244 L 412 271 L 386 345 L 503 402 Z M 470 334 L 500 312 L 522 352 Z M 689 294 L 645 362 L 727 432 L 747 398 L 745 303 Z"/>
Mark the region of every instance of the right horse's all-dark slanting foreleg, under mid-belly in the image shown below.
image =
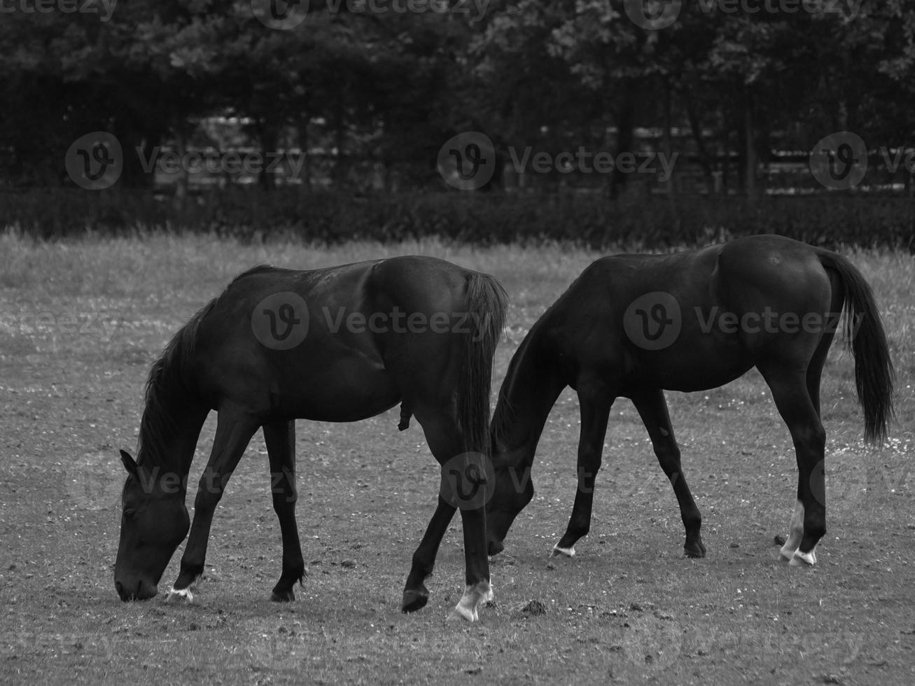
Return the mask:
<path id="1" fill-rule="evenodd" d="M 680 462 L 680 446 L 673 437 L 671 415 L 667 410 L 664 392 L 656 389 L 633 398 L 636 410 L 639 411 L 642 423 L 651 438 L 651 447 L 658 458 L 658 464 L 673 487 L 673 495 L 680 506 L 680 519 L 684 522 L 686 557 L 705 557 L 705 544 L 702 542 L 702 513 L 696 507 L 693 493 L 686 483 L 683 466 Z"/>

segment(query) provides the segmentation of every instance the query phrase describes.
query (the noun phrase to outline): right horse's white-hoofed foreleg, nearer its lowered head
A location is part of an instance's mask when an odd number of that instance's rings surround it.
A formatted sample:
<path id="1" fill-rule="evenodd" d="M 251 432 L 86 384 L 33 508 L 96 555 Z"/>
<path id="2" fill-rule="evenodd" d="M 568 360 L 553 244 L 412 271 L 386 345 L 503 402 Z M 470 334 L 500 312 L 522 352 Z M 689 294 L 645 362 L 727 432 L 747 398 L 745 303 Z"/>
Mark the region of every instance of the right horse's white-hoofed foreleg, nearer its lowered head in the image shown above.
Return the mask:
<path id="1" fill-rule="evenodd" d="M 581 406 L 581 434 L 578 439 L 577 486 L 572 515 L 565 534 L 553 546 L 553 555 L 575 556 L 575 544 L 591 530 L 591 508 L 594 503 L 594 484 L 600 469 L 600 456 L 604 451 L 604 437 L 610 407 L 616 398 L 601 384 L 580 382 L 578 402 Z"/>

